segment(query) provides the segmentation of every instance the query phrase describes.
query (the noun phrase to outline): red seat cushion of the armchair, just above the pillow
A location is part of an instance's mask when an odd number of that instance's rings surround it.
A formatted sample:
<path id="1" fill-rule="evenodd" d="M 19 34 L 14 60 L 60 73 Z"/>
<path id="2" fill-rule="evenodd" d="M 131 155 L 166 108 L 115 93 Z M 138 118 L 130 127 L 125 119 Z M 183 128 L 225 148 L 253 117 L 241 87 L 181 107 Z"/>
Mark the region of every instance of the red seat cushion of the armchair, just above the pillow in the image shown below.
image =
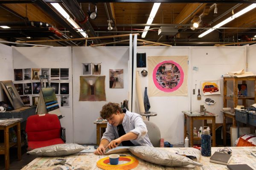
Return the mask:
<path id="1" fill-rule="evenodd" d="M 39 147 L 46 147 L 54 144 L 64 144 L 63 140 L 61 138 L 51 139 L 47 141 L 30 141 L 28 142 L 28 148 L 27 150 L 33 150 Z"/>

